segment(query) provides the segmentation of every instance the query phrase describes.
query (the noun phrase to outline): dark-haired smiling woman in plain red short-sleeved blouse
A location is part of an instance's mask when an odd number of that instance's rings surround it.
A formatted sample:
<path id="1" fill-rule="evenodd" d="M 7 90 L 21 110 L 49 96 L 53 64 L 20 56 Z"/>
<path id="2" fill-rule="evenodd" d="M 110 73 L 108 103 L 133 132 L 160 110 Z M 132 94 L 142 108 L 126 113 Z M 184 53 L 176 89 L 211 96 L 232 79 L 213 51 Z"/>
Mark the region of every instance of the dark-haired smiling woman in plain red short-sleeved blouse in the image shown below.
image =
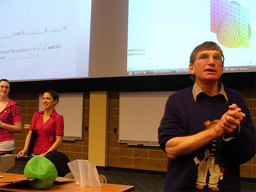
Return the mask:
<path id="1" fill-rule="evenodd" d="M 43 111 L 35 112 L 33 115 L 29 132 L 25 140 L 24 149 L 19 154 L 26 155 L 32 130 L 36 129 L 36 137 L 33 146 L 33 154 L 45 156 L 48 152 L 56 151 L 62 144 L 64 134 L 63 116 L 57 114 L 54 106 L 59 102 L 59 95 L 52 90 L 47 90 L 43 94 Z"/>

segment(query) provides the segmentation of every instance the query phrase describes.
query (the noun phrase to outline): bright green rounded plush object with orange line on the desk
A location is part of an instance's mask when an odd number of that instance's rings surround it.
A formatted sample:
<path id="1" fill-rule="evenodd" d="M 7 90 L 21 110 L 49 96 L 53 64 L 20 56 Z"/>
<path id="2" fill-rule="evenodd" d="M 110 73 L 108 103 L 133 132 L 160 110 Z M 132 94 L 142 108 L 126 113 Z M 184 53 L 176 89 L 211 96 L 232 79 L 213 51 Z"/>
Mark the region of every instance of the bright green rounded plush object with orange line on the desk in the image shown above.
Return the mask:
<path id="1" fill-rule="evenodd" d="M 43 156 L 34 156 L 26 164 L 24 175 L 30 181 L 29 186 L 37 190 L 45 190 L 53 185 L 58 173 L 55 165 Z"/>

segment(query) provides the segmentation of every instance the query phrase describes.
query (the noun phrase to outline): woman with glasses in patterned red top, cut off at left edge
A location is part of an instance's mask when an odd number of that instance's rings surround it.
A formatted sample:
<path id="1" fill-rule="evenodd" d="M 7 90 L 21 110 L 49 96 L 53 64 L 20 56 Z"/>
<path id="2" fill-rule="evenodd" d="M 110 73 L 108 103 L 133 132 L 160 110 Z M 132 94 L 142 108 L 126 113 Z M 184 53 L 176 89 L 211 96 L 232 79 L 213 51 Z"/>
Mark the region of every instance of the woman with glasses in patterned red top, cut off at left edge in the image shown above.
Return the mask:
<path id="1" fill-rule="evenodd" d="M 7 79 L 0 79 L 0 152 L 12 154 L 14 151 L 13 133 L 20 133 L 21 115 L 18 104 L 7 96 L 11 84 Z"/>

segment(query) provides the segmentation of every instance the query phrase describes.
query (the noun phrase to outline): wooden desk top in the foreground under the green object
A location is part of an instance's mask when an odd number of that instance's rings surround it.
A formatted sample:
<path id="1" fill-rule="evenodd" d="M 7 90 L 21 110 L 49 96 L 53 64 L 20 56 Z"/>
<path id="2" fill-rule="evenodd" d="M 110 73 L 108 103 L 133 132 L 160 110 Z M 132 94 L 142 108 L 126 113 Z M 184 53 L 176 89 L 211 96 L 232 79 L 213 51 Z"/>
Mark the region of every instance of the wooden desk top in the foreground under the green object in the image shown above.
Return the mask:
<path id="1" fill-rule="evenodd" d="M 14 181 L 14 180 L 26 180 L 25 175 L 15 173 L 0 173 L 3 177 L 0 178 L 0 182 Z M 18 183 L 0 183 L 0 191 L 11 192 L 131 192 L 135 187 L 130 185 L 116 185 L 110 183 L 101 183 L 101 188 L 84 187 L 76 184 L 76 181 L 63 182 L 59 184 L 53 184 L 47 190 L 35 190 L 28 186 L 27 181 Z"/>

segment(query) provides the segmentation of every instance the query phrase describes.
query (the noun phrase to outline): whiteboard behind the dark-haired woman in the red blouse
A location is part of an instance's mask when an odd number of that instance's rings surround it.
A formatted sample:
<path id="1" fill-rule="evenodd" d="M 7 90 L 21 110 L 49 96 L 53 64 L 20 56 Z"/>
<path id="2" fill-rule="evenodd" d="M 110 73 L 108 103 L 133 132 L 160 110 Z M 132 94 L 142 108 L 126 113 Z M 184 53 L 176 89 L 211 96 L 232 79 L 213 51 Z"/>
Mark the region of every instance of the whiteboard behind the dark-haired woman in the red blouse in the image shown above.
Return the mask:
<path id="1" fill-rule="evenodd" d="M 42 96 L 39 94 L 39 111 L 43 111 Z M 63 140 L 82 139 L 83 93 L 60 93 L 59 104 L 54 108 L 64 118 Z"/>

